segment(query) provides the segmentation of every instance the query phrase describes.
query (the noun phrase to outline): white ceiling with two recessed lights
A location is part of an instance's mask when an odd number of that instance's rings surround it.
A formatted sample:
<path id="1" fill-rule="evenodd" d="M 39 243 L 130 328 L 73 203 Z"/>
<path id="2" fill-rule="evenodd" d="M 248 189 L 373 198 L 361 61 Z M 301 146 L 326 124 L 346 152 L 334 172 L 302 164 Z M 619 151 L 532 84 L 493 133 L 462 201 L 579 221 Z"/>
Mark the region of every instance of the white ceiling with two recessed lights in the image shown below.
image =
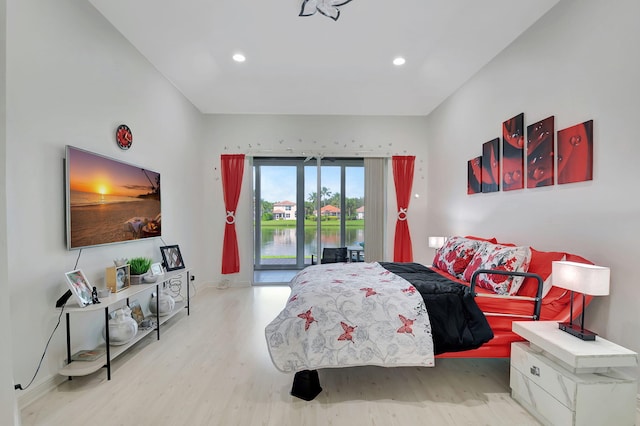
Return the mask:
<path id="1" fill-rule="evenodd" d="M 559 0 L 89 1 L 203 113 L 426 115 Z"/>

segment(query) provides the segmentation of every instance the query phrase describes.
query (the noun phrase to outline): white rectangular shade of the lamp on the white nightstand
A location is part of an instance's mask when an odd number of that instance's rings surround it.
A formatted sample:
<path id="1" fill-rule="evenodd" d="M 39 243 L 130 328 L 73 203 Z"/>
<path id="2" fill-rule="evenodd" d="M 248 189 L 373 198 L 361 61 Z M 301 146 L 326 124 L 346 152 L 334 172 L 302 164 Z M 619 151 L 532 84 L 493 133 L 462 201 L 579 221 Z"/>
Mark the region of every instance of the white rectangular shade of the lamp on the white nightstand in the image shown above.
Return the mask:
<path id="1" fill-rule="evenodd" d="M 604 266 L 585 263 L 554 261 L 551 264 L 551 283 L 560 288 L 589 294 L 609 294 L 610 270 Z"/>

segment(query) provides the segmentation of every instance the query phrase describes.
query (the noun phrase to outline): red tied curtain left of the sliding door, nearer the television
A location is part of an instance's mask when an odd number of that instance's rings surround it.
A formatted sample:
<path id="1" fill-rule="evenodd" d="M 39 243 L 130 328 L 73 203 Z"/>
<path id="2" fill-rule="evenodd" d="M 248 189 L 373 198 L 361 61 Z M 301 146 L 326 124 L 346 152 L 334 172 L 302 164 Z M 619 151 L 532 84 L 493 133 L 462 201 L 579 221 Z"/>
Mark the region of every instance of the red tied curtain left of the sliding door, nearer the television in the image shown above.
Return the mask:
<path id="1" fill-rule="evenodd" d="M 224 207 L 227 212 L 222 243 L 222 273 L 240 272 L 240 255 L 238 253 L 238 237 L 236 235 L 236 209 L 242 189 L 244 173 L 244 154 L 221 155 L 222 191 Z"/>

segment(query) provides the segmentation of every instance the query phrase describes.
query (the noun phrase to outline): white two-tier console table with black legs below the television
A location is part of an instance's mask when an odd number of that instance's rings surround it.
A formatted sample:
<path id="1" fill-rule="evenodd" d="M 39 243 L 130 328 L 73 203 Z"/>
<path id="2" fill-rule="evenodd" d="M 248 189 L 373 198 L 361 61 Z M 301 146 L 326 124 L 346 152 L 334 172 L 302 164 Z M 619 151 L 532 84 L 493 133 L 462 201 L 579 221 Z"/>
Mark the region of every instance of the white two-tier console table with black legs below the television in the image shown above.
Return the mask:
<path id="1" fill-rule="evenodd" d="M 165 315 L 160 315 L 160 287 L 164 286 L 167 283 L 180 282 L 186 284 L 186 300 L 185 301 L 176 301 L 174 309 Z M 166 323 L 169 319 L 177 315 L 182 309 L 187 310 L 187 316 L 190 315 L 190 292 L 189 292 L 189 283 L 190 283 L 190 274 L 189 269 L 179 269 L 176 271 L 166 272 L 164 275 L 160 276 L 155 283 L 149 284 L 136 284 L 129 286 L 127 289 L 122 290 L 118 293 L 112 293 L 108 297 L 103 297 L 100 299 L 99 304 L 88 305 L 85 307 L 80 307 L 77 304 L 71 305 L 68 307 L 60 308 L 66 310 L 66 331 L 67 331 L 67 364 L 62 367 L 58 373 L 63 376 L 68 376 L 69 379 L 73 376 L 86 376 L 88 374 L 94 373 L 101 368 L 107 369 L 107 379 L 111 380 L 111 361 L 117 356 L 124 353 L 131 346 L 135 345 L 137 342 L 142 340 L 147 335 L 156 332 L 157 340 L 160 340 L 160 329 L 162 324 Z M 111 346 L 109 344 L 109 309 L 116 305 L 121 305 L 124 301 L 127 305 L 129 304 L 129 299 L 145 293 L 147 291 L 155 289 L 156 297 L 156 327 L 148 328 L 148 329 L 138 329 L 136 335 L 129 342 L 118 345 Z M 80 313 L 80 312 L 96 312 L 99 310 L 104 310 L 104 322 L 105 322 L 105 344 L 103 347 L 105 349 L 105 354 L 100 356 L 99 358 L 93 361 L 73 361 L 71 359 L 71 314 Z"/>

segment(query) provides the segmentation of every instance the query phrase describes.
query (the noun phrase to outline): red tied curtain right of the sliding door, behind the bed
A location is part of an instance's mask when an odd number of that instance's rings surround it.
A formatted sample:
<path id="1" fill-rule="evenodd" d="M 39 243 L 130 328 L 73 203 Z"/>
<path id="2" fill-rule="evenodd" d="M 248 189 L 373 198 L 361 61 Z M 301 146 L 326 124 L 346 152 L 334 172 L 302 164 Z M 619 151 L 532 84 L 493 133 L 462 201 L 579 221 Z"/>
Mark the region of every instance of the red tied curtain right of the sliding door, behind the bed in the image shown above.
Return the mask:
<path id="1" fill-rule="evenodd" d="M 413 249 L 407 214 L 413 186 L 413 164 L 415 156 L 393 156 L 393 181 L 396 184 L 396 201 L 398 202 L 398 220 L 396 235 L 393 241 L 393 261 L 413 262 Z"/>

